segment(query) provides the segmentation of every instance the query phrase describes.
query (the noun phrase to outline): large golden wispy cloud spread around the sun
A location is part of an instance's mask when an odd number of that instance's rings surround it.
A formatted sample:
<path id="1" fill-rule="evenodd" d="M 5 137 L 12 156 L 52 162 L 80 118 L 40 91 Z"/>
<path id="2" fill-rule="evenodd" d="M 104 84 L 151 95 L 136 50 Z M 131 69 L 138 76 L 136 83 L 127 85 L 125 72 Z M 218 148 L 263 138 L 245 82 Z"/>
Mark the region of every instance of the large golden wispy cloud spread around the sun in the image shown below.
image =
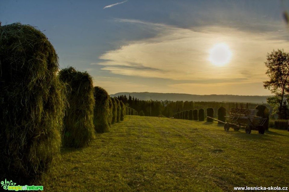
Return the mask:
<path id="1" fill-rule="evenodd" d="M 231 83 L 247 82 L 247 79 L 251 83 L 262 82 L 267 78 L 266 54 L 278 48 L 289 50 L 288 41 L 275 39 L 276 33 L 272 32 L 258 34 L 220 26 L 186 29 L 139 20 L 118 21 L 145 25 L 158 34 L 127 42 L 127 45 L 101 55 L 103 61 L 96 64 L 113 74 L 190 80 L 197 84 L 208 82 L 208 79 L 213 84 L 226 79 Z M 233 53 L 231 62 L 223 67 L 214 66 L 208 60 L 210 48 L 220 42 L 229 45 Z"/>

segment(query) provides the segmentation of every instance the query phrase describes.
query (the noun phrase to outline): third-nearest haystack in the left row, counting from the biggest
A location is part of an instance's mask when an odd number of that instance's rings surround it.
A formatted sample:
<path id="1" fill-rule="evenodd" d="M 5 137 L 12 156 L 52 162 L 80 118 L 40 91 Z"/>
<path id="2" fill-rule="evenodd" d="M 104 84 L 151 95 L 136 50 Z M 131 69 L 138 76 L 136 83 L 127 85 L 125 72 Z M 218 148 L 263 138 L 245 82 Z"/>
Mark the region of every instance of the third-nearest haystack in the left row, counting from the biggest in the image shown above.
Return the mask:
<path id="1" fill-rule="evenodd" d="M 97 133 L 109 131 L 110 121 L 110 96 L 101 87 L 94 87 L 93 92 L 95 107 L 93 112 L 93 124 Z"/>

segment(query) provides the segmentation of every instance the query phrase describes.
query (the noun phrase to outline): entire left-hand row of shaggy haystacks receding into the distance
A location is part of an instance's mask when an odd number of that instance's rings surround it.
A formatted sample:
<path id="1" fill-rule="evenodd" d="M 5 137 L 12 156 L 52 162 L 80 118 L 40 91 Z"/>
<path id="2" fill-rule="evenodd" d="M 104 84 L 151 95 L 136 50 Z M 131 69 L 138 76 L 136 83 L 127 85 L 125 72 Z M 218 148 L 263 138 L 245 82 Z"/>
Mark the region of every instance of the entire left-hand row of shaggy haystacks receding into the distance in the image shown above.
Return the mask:
<path id="1" fill-rule="evenodd" d="M 61 146 L 85 147 L 124 119 L 127 107 L 72 67 L 59 73 L 47 37 L 29 25 L 0 26 L 0 179 L 27 185 Z"/>

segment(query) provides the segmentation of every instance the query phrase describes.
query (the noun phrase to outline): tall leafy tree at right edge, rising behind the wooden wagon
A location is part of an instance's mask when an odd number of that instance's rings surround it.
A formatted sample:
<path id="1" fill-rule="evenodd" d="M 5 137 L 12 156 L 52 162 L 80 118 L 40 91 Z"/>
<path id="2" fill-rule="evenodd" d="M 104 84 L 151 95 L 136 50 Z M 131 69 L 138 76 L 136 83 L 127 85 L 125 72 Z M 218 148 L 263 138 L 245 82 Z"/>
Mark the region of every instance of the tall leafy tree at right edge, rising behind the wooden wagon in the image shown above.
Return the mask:
<path id="1" fill-rule="evenodd" d="M 269 97 L 267 102 L 269 104 L 278 104 L 278 118 L 285 119 L 282 113 L 284 100 L 288 97 L 289 93 L 289 53 L 284 50 L 273 50 L 267 54 L 267 67 L 266 74 L 269 77 L 268 81 L 264 81 L 264 88 L 273 93 L 274 97 Z"/>

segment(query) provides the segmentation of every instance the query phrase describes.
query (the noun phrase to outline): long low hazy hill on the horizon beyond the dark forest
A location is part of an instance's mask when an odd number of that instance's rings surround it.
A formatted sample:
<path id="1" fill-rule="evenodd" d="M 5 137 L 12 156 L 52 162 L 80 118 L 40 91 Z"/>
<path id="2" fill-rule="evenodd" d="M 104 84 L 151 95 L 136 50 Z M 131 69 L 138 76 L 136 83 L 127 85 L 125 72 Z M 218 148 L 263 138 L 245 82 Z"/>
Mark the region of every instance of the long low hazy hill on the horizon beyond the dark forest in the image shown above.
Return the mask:
<path id="1" fill-rule="evenodd" d="M 181 93 L 150 93 L 150 92 L 121 92 L 111 94 L 111 97 L 129 95 L 140 100 L 170 100 L 170 101 L 217 101 L 217 102 L 250 102 L 266 103 L 269 96 L 243 96 L 243 95 L 192 95 Z"/>

